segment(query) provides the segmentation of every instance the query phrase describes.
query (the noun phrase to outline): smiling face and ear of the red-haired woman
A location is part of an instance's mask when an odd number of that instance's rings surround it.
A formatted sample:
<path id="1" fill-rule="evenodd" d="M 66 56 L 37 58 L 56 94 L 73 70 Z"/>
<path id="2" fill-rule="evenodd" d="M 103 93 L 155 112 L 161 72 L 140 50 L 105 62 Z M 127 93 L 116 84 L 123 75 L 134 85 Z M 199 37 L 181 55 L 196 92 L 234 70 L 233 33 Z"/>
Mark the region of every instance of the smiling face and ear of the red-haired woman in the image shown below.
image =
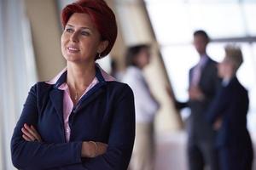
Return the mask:
<path id="1" fill-rule="evenodd" d="M 89 14 L 74 13 L 69 18 L 61 35 L 61 52 L 67 61 L 94 61 L 107 47 L 108 41 L 101 40 Z"/>

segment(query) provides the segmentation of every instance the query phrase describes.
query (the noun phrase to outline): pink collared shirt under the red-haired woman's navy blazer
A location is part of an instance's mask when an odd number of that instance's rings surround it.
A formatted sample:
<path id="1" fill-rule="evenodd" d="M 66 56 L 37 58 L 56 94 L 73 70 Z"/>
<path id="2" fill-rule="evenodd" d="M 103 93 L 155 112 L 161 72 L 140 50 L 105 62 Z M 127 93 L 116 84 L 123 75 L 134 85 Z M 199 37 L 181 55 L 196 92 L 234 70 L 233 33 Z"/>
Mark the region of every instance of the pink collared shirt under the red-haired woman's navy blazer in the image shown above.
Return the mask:
<path id="1" fill-rule="evenodd" d="M 100 69 L 101 69 L 102 77 L 104 78 L 104 80 L 106 82 L 115 81 L 115 79 L 113 77 L 111 77 L 110 75 L 108 75 L 107 72 L 103 71 L 102 68 L 100 68 Z M 55 82 L 58 81 L 58 79 L 61 77 L 61 75 L 65 71 L 67 71 L 67 68 L 62 70 L 56 77 L 54 77 L 52 80 L 50 80 L 49 82 L 46 82 L 46 83 L 55 84 Z M 84 91 L 84 94 L 89 92 L 90 89 L 93 88 L 98 82 L 99 82 L 98 79 L 96 77 L 94 77 L 92 82 L 90 82 L 89 87 L 86 88 L 86 90 Z M 59 87 L 59 89 L 64 91 L 64 94 L 63 94 L 63 120 L 64 120 L 65 136 L 66 136 L 66 140 L 68 142 L 69 139 L 70 139 L 70 133 L 71 133 L 71 129 L 70 129 L 69 124 L 68 124 L 68 118 L 69 118 L 69 116 L 70 116 L 70 114 L 73 110 L 73 101 L 70 97 L 70 92 L 69 92 L 67 82 L 63 82 L 61 84 L 61 86 Z M 84 94 L 80 97 L 80 99 L 84 96 Z"/>

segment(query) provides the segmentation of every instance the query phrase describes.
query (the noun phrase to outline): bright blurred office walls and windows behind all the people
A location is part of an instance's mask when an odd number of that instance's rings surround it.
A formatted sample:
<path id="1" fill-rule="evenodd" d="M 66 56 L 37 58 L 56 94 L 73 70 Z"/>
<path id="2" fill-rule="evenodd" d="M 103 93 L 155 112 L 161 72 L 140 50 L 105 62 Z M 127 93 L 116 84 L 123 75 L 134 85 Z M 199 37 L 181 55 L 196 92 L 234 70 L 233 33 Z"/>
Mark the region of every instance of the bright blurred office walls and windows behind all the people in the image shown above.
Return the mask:
<path id="1" fill-rule="evenodd" d="M 15 169 L 10 138 L 29 88 L 54 77 L 65 67 L 61 56 L 61 8 L 71 0 L 0 0 L 0 169 Z M 106 0 L 116 14 L 119 35 L 113 51 L 99 61 L 120 73 L 125 50 L 137 43 L 152 47 L 152 62 L 145 70 L 149 86 L 160 102 L 155 120 L 156 169 L 187 170 L 183 122 L 189 110 L 175 110 L 166 93 L 188 99 L 189 68 L 198 62 L 193 32 L 207 31 L 212 39 L 207 53 L 224 58 L 224 45 L 241 46 L 244 63 L 238 78 L 248 89 L 247 125 L 256 149 L 256 1 L 255 0 Z M 255 153 L 255 152 L 254 152 Z M 256 155 L 256 154 L 254 154 Z M 256 163 L 254 168 L 256 170 Z"/>

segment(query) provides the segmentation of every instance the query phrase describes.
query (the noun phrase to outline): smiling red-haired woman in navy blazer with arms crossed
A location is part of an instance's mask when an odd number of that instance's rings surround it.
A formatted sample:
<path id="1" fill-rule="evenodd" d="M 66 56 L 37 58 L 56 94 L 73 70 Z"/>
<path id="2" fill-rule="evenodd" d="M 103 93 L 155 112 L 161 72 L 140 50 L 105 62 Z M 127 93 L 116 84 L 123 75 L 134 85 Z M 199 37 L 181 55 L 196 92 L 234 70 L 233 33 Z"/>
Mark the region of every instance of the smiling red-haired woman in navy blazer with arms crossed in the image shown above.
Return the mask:
<path id="1" fill-rule="evenodd" d="M 19 169 L 125 170 L 135 138 L 131 88 L 96 64 L 117 36 L 103 0 L 62 10 L 61 52 L 67 68 L 32 86 L 11 139 Z"/>

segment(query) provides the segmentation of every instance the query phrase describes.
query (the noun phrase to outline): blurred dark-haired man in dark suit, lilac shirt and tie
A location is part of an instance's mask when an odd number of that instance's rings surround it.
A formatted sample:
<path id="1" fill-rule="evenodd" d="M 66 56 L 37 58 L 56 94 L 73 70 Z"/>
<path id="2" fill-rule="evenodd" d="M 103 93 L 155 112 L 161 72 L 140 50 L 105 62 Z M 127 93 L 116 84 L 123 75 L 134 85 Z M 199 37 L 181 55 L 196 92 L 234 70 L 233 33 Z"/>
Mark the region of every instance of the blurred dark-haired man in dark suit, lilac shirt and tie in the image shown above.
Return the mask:
<path id="1" fill-rule="evenodd" d="M 194 32 L 194 46 L 200 55 L 199 62 L 189 70 L 189 101 L 179 102 L 173 96 L 178 110 L 189 107 L 188 158 L 189 170 L 218 170 L 218 151 L 214 145 L 216 132 L 205 116 L 220 85 L 217 62 L 207 54 L 210 38 L 206 31 Z M 172 94 L 171 94 L 172 95 Z"/>

